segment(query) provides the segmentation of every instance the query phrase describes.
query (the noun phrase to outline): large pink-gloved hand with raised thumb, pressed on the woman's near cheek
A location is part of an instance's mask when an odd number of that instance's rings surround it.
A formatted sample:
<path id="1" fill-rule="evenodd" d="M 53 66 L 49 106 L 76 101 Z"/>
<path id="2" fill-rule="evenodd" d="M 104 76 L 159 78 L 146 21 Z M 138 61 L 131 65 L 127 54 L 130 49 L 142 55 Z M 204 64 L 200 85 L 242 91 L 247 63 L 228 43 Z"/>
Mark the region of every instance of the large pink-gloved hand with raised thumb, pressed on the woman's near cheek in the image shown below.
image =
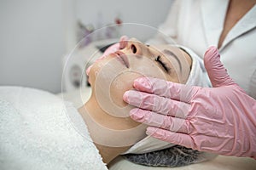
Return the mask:
<path id="1" fill-rule="evenodd" d="M 189 87 L 155 78 L 138 78 L 124 100 L 139 107 L 130 111 L 148 124 L 156 139 L 226 156 L 256 158 L 256 100 L 234 82 L 208 48 L 204 63 L 213 88 Z"/>

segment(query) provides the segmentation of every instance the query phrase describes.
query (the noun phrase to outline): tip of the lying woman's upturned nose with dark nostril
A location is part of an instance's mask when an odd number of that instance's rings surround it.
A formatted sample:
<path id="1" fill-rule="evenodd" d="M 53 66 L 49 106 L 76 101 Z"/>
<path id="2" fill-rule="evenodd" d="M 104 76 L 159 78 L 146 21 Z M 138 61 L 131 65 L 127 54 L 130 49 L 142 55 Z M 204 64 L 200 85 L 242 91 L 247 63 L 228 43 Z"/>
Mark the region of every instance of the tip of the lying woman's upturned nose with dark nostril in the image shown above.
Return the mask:
<path id="1" fill-rule="evenodd" d="M 141 54 L 140 43 L 136 38 L 131 38 L 128 41 L 120 41 L 121 49 L 125 50 L 127 54 Z"/>

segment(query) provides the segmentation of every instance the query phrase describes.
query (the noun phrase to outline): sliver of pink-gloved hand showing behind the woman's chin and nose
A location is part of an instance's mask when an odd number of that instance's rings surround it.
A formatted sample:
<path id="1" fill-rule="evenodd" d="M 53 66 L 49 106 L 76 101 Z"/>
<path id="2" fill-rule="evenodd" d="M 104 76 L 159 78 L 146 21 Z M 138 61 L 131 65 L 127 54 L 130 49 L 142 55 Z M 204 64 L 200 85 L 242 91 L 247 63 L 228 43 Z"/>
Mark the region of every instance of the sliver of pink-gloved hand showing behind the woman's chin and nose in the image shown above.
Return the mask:
<path id="1" fill-rule="evenodd" d="M 102 57 L 100 57 L 99 59 L 96 59 L 96 62 L 98 62 L 101 59 L 104 59 L 105 57 L 108 56 L 108 54 L 113 54 L 114 52 L 118 51 L 119 49 L 125 48 L 125 45 L 127 43 L 128 37 L 126 36 L 122 36 L 120 37 L 119 42 L 113 44 L 112 46 L 110 46 L 109 48 L 107 48 L 104 53 L 102 54 Z M 86 74 L 87 76 L 89 75 L 90 72 L 90 68 L 92 65 L 90 65 L 87 70 L 86 70 Z"/>

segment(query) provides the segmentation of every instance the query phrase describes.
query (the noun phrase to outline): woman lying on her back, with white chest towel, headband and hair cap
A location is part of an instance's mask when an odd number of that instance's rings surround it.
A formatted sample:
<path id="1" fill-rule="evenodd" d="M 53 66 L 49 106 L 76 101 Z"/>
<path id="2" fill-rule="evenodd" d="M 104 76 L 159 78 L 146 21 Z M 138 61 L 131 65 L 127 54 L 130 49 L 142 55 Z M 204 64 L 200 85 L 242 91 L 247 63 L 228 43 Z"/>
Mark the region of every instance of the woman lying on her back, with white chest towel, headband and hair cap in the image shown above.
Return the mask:
<path id="1" fill-rule="evenodd" d="M 137 163 L 167 167 L 212 159 L 212 154 L 153 139 L 145 134 L 147 125 L 131 120 L 132 107 L 123 94 L 138 77 L 209 84 L 201 59 L 189 49 L 148 46 L 131 38 L 92 65 L 92 94 L 79 110 L 38 89 L 1 87 L 0 169 L 107 169 L 123 154 Z"/>

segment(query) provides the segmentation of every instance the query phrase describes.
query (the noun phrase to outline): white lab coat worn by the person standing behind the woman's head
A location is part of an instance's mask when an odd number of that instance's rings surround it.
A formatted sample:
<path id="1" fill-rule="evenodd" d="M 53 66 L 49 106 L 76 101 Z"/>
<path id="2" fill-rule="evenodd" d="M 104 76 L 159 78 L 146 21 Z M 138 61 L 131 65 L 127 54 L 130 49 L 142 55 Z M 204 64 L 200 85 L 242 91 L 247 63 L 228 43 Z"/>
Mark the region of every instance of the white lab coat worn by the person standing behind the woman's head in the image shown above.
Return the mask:
<path id="1" fill-rule="evenodd" d="M 209 46 L 218 46 L 228 3 L 177 0 L 159 30 L 203 58 Z M 230 30 L 218 50 L 230 77 L 256 99 L 256 5 Z"/>

